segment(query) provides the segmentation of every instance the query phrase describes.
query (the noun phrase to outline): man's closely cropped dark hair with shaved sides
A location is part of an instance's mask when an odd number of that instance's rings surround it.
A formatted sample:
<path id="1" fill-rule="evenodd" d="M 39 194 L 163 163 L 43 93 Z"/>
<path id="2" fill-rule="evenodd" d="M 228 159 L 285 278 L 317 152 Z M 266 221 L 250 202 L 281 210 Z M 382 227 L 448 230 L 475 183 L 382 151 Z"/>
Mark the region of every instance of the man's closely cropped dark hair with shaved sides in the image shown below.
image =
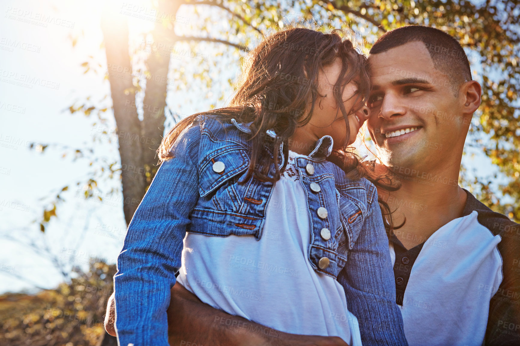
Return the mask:
<path id="1" fill-rule="evenodd" d="M 429 26 L 408 25 L 388 31 L 374 43 L 370 54 L 415 41 L 424 43 L 435 69 L 448 75 L 454 91 L 458 92 L 462 83 L 472 80 L 470 61 L 460 43 L 449 34 Z"/>

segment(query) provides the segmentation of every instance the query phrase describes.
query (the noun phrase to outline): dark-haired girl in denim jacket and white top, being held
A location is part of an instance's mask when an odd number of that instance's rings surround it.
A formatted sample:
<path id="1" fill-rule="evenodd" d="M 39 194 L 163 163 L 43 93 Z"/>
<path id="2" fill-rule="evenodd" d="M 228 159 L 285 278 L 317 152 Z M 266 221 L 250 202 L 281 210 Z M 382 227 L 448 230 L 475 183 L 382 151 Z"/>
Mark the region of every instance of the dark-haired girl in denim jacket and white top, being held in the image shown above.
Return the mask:
<path id="1" fill-rule="evenodd" d="M 278 32 L 251 52 L 229 107 L 165 136 L 114 276 L 120 345 L 168 344 L 176 272 L 203 302 L 270 328 L 407 344 L 363 177 L 381 182 L 342 150 L 368 117 L 365 64 L 335 32 Z"/>

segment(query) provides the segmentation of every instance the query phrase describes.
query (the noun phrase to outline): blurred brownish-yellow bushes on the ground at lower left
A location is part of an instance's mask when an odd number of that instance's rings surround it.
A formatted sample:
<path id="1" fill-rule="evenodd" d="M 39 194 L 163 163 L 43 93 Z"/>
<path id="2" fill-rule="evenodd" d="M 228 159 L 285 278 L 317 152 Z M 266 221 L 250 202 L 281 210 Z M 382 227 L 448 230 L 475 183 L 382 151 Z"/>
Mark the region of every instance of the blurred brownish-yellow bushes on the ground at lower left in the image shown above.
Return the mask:
<path id="1" fill-rule="evenodd" d="M 112 293 L 115 265 L 90 260 L 90 268 L 70 284 L 36 295 L 0 296 L 0 344 L 96 346 L 105 335 L 105 309 Z"/>

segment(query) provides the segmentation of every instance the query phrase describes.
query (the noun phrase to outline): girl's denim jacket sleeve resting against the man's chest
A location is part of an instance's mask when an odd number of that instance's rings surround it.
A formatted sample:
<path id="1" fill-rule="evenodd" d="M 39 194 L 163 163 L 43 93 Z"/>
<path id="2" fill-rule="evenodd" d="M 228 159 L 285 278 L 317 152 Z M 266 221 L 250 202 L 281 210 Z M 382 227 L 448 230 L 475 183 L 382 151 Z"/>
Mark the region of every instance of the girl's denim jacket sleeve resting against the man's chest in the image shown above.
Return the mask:
<path id="1" fill-rule="evenodd" d="M 395 302 L 394 271 L 384 230 L 374 188 L 361 232 L 337 277 L 345 289 L 348 310 L 358 318 L 363 346 L 408 345 Z"/>

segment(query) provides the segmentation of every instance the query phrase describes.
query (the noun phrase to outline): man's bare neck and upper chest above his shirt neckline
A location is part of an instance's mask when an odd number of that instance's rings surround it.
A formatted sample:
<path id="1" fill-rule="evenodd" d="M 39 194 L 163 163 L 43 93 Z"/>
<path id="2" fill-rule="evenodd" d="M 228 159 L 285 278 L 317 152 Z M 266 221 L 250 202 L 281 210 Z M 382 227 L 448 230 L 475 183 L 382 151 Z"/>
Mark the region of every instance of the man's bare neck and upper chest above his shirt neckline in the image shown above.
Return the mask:
<path id="1" fill-rule="evenodd" d="M 394 192 L 378 189 L 394 211 L 394 226 L 406 218 L 405 224 L 394 233 L 407 249 L 425 242 L 443 225 L 462 216 L 467 194 L 458 185 L 459 167 L 460 164 L 452 165 L 428 174 L 420 170 L 408 175 L 394 171 L 401 188 Z M 385 169 L 383 165 L 376 165 L 376 172 Z"/>

